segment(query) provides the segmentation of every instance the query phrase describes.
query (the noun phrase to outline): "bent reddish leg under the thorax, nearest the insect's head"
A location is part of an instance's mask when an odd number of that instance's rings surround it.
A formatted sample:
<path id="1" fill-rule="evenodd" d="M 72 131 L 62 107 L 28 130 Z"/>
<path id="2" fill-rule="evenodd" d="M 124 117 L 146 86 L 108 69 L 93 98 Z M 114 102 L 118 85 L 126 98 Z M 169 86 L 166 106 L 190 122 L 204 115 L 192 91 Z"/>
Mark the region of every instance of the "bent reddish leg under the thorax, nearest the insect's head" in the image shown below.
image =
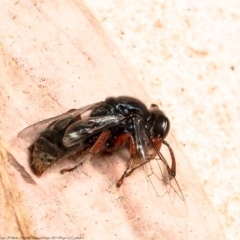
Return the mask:
<path id="1" fill-rule="evenodd" d="M 122 183 L 123 183 L 123 179 L 126 177 L 126 174 L 128 172 L 128 170 L 131 168 L 132 164 L 133 164 L 133 160 L 134 160 L 134 156 L 136 155 L 137 151 L 136 151 L 136 144 L 135 141 L 133 139 L 133 136 L 130 133 L 123 133 L 122 135 L 118 136 L 114 142 L 112 143 L 114 146 L 114 149 L 119 149 L 120 147 L 122 147 L 127 141 L 129 140 L 129 150 L 130 150 L 130 159 L 128 161 L 126 170 L 124 171 L 123 175 L 121 176 L 121 178 L 118 180 L 116 186 L 117 188 L 119 188 Z"/>

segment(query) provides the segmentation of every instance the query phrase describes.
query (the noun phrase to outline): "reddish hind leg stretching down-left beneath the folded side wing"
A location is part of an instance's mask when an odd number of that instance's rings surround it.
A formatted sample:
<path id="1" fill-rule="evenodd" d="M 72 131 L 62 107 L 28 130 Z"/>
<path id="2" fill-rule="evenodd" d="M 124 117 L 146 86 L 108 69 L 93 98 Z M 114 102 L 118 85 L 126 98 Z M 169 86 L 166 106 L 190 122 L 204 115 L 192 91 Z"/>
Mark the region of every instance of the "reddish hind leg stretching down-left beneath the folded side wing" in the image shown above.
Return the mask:
<path id="1" fill-rule="evenodd" d="M 108 138 L 110 136 L 110 131 L 106 130 L 103 131 L 100 136 L 98 137 L 97 141 L 93 144 L 93 146 L 90 148 L 89 154 L 87 154 L 87 156 L 85 156 L 80 163 L 78 163 L 77 165 L 75 165 L 72 168 L 65 168 L 62 169 L 60 171 L 61 174 L 64 174 L 65 172 L 71 172 L 75 169 L 77 169 L 79 166 L 83 165 L 88 159 L 91 159 L 93 157 L 93 155 L 99 153 L 102 148 L 104 147 L 105 143 L 107 142 Z"/>

